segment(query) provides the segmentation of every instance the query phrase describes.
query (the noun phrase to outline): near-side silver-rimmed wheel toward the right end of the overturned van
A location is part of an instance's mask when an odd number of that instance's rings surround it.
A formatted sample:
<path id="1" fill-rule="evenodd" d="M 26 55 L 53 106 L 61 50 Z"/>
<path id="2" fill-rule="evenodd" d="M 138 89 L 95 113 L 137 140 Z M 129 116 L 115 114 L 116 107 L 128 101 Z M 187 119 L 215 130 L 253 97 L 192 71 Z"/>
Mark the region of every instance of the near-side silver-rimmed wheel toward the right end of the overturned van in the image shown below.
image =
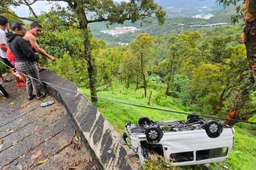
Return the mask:
<path id="1" fill-rule="evenodd" d="M 205 122 L 205 131 L 210 138 L 217 138 L 222 132 L 222 127 L 217 121 L 208 120 Z"/>

